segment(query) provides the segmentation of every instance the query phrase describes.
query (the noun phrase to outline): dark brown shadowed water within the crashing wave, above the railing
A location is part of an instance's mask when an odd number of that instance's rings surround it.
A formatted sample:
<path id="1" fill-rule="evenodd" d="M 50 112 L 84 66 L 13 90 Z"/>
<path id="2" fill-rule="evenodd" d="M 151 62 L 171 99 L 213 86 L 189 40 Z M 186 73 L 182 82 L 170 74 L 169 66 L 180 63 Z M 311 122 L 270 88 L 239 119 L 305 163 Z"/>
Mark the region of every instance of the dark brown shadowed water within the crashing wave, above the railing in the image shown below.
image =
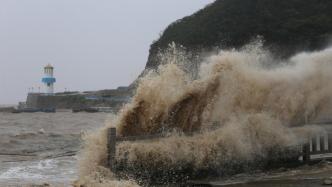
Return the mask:
<path id="1" fill-rule="evenodd" d="M 147 115 L 144 113 L 150 107 L 148 102 L 139 101 L 137 106 L 125 113 L 120 134 L 122 136 L 155 134 L 169 129 L 183 132 L 197 131 L 203 120 L 201 114 L 213 99 L 218 86 L 219 82 L 215 81 L 209 83 L 204 90 L 192 89 L 176 103 L 171 103 L 168 111 L 155 113 L 151 118 L 146 118 Z"/>

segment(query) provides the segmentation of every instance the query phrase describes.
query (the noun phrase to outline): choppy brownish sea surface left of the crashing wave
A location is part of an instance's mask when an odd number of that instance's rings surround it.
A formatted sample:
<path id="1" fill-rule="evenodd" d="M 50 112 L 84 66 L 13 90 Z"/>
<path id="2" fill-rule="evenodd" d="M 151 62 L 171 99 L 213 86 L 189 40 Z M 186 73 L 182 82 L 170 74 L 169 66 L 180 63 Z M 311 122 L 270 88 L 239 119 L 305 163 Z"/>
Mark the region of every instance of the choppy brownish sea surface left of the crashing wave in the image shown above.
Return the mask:
<path id="1" fill-rule="evenodd" d="M 0 186 L 69 186 L 77 179 L 82 134 L 102 127 L 111 116 L 0 113 Z"/>

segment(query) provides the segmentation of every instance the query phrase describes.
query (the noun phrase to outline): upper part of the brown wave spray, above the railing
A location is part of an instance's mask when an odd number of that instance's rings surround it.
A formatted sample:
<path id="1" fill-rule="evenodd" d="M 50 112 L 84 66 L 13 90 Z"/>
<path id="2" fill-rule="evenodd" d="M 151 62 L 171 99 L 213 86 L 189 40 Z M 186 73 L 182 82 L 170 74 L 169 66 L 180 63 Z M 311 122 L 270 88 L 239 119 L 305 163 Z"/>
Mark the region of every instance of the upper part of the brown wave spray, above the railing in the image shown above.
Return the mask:
<path id="1" fill-rule="evenodd" d="M 250 113 L 270 115 L 284 126 L 303 125 L 329 108 L 331 49 L 300 54 L 272 69 L 264 66 L 273 62 L 262 51 L 221 51 L 203 63 L 200 77 L 192 81 L 174 63 L 148 73 L 120 114 L 120 133 L 192 131 Z"/>

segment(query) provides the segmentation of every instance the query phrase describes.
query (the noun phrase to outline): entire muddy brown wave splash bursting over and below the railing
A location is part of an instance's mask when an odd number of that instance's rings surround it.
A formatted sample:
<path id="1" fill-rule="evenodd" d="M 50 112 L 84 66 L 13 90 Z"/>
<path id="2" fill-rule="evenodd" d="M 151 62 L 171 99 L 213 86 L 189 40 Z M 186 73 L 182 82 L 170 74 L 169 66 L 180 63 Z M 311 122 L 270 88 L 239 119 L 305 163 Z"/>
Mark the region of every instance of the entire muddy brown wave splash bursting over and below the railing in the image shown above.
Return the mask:
<path id="1" fill-rule="evenodd" d="M 293 127 L 330 111 L 331 59 L 328 48 L 280 62 L 249 45 L 209 57 L 197 79 L 174 62 L 162 63 L 141 78 L 132 102 L 106 128 L 116 126 L 121 136 L 178 133 L 159 141 L 119 144 L 117 163 L 134 177 L 159 171 L 186 179 L 196 171 L 225 174 L 233 166 L 269 160 L 275 155 L 271 150 L 297 145 L 312 132 Z M 219 124 L 213 131 L 208 130 L 211 122 Z M 81 178 L 102 173 L 106 147 L 105 129 L 88 139 Z"/>

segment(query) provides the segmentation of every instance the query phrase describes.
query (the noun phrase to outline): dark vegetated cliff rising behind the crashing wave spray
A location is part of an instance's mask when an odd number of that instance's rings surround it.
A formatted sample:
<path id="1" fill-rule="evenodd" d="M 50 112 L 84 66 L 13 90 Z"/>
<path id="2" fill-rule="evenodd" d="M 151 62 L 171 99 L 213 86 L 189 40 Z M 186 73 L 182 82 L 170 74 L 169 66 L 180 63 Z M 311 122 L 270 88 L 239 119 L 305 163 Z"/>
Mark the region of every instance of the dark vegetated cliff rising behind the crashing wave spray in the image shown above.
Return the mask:
<path id="1" fill-rule="evenodd" d="M 150 48 L 146 68 L 172 42 L 199 53 L 239 48 L 257 36 L 278 57 L 325 47 L 332 35 L 331 0 L 216 0 L 169 25 Z"/>

